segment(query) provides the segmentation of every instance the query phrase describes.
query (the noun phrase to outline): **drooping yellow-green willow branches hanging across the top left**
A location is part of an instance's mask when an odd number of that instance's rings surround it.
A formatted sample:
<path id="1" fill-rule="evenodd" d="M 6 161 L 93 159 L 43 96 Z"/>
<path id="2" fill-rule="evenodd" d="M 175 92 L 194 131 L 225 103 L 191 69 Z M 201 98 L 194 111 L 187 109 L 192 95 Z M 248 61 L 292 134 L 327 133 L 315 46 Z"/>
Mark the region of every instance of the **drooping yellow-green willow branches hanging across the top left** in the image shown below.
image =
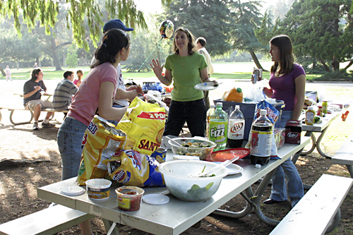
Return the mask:
<path id="1" fill-rule="evenodd" d="M 169 4 L 172 0 L 161 0 L 162 4 Z M 35 27 L 36 20 L 45 27 L 45 32 L 49 35 L 50 27 L 54 28 L 61 6 L 66 8 L 66 26 L 73 32 L 73 41 L 79 47 L 88 50 L 88 43 L 85 37 L 85 18 L 90 29 L 90 39 L 98 42 L 101 37 L 102 10 L 107 10 L 108 18 L 119 18 L 127 25 L 134 27 L 139 25 L 146 28 L 143 12 L 136 9 L 133 0 L 2 0 L 0 1 L 0 16 L 13 16 L 15 28 L 18 35 L 22 35 L 20 16 L 29 29 Z"/>

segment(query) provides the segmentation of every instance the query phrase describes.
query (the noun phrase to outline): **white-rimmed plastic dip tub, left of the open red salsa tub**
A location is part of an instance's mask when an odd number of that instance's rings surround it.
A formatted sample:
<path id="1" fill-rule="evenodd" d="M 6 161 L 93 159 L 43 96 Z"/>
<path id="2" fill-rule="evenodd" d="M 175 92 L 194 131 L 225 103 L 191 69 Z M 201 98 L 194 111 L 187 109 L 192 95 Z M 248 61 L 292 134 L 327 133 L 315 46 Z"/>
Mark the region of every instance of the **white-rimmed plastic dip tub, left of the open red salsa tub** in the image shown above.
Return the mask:
<path id="1" fill-rule="evenodd" d="M 107 199 L 112 182 L 107 179 L 89 179 L 86 183 L 87 195 L 90 199 Z"/>

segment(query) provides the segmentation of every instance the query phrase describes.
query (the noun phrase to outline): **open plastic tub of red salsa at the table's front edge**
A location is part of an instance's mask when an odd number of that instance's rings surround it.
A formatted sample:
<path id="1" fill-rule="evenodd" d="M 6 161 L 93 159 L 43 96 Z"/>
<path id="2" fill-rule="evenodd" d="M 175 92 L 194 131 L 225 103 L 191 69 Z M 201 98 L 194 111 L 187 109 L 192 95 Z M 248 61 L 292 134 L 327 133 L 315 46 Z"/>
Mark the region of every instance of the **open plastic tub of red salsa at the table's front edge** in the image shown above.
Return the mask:
<path id="1" fill-rule="evenodd" d="M 134 186 L 122 186 L 116 188 L 118 196 L 118 205 L 120 210 L 136 211 L 140 210 L 141 199 L 145 191 L 142 188 Z"/>

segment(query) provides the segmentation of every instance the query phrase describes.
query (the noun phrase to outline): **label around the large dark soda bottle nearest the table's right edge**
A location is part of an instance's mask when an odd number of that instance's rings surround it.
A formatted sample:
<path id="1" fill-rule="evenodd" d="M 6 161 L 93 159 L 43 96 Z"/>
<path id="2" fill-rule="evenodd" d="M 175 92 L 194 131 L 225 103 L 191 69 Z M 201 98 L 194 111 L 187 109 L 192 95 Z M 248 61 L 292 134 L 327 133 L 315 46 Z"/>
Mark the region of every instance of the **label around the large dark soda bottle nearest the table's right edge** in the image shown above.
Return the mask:
<path id="1" fill-rule="evenodd" d="M 272 130 L 251 130 L 250 154 L 256 157 L 269 157 L 271 155 L 272 135 Z"/>

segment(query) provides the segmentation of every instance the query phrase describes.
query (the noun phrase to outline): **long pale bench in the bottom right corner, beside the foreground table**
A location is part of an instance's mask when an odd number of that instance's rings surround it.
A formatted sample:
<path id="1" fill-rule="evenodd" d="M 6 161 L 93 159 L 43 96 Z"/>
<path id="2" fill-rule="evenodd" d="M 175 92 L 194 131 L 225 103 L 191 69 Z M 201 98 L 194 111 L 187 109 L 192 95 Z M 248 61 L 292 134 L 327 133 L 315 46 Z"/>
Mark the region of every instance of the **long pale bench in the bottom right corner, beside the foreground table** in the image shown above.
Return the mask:
<path id="1" fill-rule="evenodd" d="M 327 234 L 340 222 L 340 205 L 353 179 L 323 174 L 270 235 Z"/>

